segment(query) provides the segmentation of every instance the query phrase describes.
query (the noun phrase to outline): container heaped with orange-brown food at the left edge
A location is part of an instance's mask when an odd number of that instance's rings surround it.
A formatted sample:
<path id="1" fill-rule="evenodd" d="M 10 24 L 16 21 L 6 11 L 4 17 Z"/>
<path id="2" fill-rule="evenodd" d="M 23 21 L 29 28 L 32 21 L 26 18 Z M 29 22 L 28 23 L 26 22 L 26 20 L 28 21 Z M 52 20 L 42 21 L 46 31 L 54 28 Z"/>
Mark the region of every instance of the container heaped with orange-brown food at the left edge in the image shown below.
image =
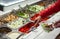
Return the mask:
<path id="1" fill-rule="evenodd" d="M 18 19 L 18 16 L 16 16 L 15 13 L 13 13 L 13 12 L 4 14 L 4 15 L 0 16 L 0 26 L 3 24 L 7 24 L 11 21 L 14 21 L 16 19 Z"/>

